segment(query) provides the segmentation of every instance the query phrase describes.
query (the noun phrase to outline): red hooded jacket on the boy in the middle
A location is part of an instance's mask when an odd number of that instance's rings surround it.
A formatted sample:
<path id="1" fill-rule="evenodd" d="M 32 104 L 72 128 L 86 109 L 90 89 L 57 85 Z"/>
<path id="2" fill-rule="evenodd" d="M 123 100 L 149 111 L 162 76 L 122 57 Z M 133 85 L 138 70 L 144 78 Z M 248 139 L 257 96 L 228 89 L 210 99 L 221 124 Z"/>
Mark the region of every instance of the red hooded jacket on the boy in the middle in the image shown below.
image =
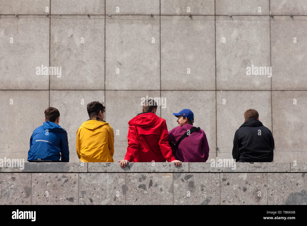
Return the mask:
<path id="1" fill-rule="evenodd" d="M 129 162 L 168 162 L 176 160 L 169 146 L 165 119 L 151 112 L 131 119 L 125 160 Z"/>

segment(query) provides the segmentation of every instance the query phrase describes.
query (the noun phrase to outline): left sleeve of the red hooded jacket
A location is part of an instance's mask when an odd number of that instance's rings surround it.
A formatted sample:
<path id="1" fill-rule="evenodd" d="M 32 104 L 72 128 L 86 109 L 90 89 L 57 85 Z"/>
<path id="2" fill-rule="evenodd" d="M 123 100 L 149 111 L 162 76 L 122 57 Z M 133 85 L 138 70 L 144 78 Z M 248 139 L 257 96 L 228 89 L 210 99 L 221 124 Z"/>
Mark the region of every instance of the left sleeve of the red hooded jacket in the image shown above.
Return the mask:
<path id="1" fill-rule="evenodd" d="M 138 139 L 136 126 L 129 126 L 127 138 L 128 138 L 128 147 L 124 160 L 132 162 L 134 160 L 135 154 L 140 149 L 140 141 Z"/>

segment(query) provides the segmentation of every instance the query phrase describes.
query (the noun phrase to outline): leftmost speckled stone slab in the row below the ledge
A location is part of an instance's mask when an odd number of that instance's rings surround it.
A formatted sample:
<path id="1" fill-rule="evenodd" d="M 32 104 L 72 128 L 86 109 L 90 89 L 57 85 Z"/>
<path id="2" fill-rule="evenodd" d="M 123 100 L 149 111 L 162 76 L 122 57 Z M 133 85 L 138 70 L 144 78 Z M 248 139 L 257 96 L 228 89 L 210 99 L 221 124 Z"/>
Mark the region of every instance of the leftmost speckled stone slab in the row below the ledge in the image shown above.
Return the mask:
<path id="1" fill-rule="evenodd" d="M 31 174 L 1 173 L 0 174 L 0 204 L 30 205 L 31 204 Z"/>

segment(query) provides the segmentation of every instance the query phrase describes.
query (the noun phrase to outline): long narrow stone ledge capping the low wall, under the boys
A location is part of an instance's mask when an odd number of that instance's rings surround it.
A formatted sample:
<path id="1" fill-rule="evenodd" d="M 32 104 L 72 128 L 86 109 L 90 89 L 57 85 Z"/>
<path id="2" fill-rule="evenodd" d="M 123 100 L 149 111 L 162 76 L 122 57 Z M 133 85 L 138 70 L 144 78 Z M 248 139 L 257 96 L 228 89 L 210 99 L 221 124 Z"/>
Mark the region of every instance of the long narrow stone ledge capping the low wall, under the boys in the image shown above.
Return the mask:
<path id="1" fill-rule="evenodd" d="M 214 167 L 212 167 L 214 165 Z M 121 168 L 118 162 L 25 162 L 21 167 L 0 167 L 0 172 L 307 172 L 307 163 L 257 162 L 235 163 L 231 167 L 215 167 L 210 162 L 183 162 L 176 167 L 170 162 L 130 162 Z"/>

